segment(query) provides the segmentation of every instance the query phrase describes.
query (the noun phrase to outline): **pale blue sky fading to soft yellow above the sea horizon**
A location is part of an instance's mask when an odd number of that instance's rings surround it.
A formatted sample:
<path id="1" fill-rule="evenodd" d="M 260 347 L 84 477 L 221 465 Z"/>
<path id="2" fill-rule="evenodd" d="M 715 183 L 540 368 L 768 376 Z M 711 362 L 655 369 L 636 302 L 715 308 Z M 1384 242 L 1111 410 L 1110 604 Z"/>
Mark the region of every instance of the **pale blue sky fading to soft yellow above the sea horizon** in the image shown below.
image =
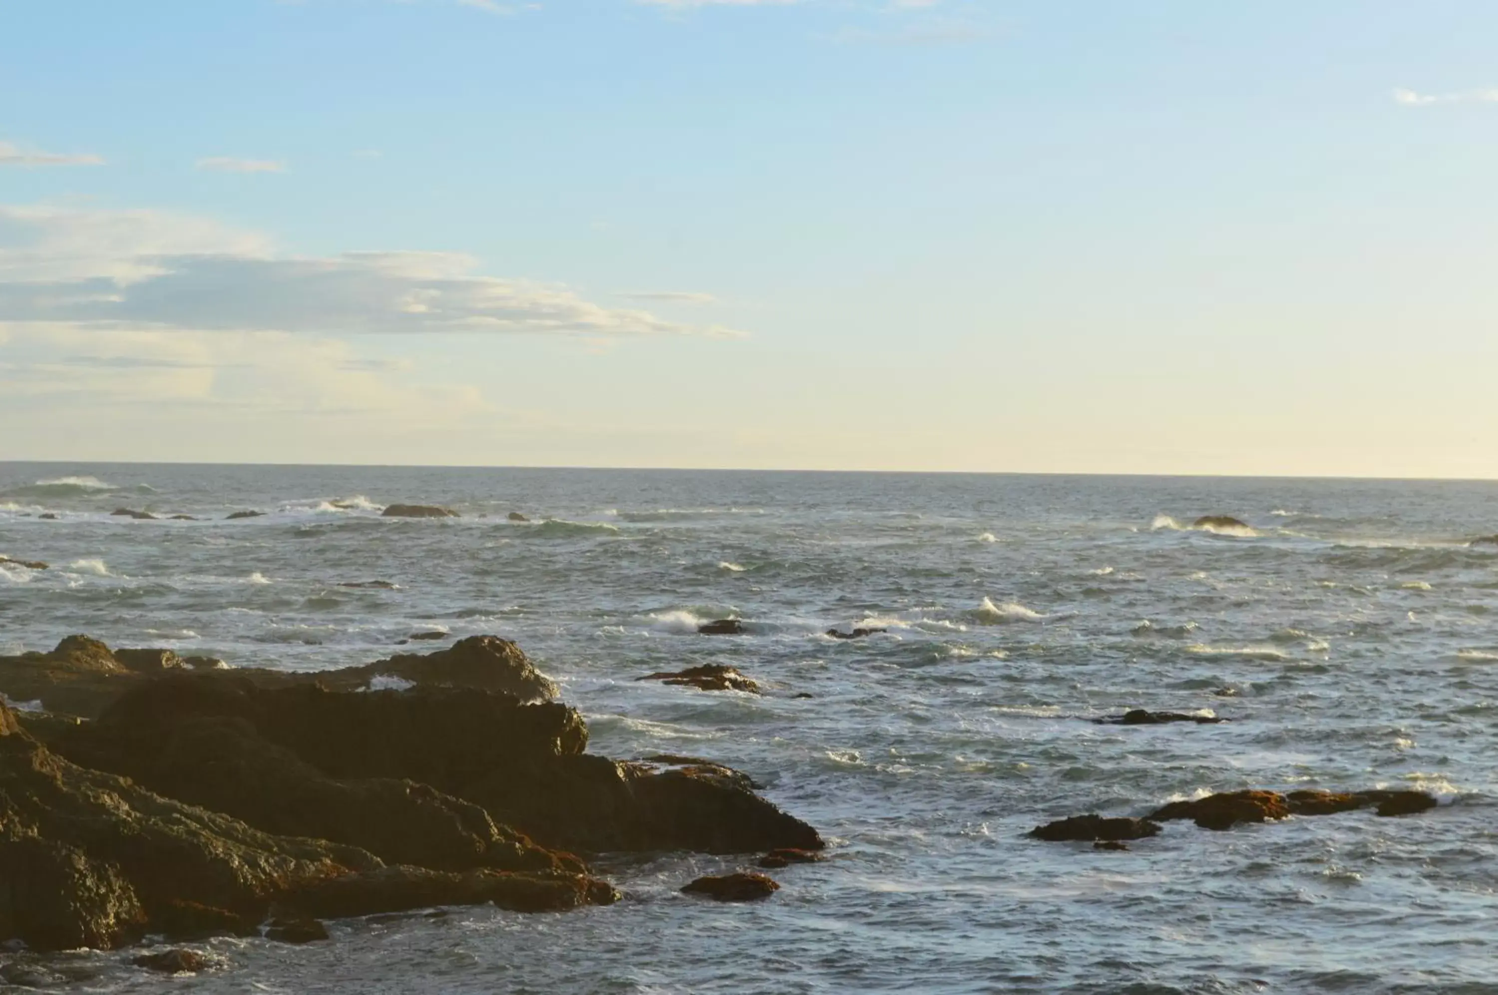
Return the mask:
<path id="1" fill-rule="evenodd" d="M 1489 0 L 10 0 L 0 459 L 1498 477 Z"/>

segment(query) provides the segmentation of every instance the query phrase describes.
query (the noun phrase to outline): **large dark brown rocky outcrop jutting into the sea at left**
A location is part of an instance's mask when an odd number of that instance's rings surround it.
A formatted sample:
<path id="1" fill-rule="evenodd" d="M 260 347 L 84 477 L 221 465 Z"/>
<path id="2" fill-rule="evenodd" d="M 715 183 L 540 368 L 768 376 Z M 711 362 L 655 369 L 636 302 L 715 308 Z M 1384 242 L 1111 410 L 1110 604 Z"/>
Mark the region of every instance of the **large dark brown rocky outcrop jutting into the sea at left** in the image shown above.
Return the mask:
<path id="1" fill-rule="evenodd" d="M 620 898 L 595 854 L 824 847 L 730 768 L 589 754 L 493 636 L 321 673 L 69 636 L 0 657 L 0 943 L 37 952 L 562 911 Z"/>

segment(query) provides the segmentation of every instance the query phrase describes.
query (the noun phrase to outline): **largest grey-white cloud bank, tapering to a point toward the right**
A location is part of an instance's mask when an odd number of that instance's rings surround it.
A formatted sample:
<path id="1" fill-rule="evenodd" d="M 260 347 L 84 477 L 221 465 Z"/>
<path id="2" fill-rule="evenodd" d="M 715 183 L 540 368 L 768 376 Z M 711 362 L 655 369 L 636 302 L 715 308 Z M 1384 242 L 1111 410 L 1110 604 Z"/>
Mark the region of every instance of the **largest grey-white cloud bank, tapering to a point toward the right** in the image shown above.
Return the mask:
<path id="1" fill-rule="evenodd" d="M 0 245 L 6 245 L 0 325 L 313 335 L 739 335 L 604 307 L 562 284 L 479 275 L 473 259 L 455 253 L 280 256 L 243 235 L 150 211 L 0 206 Z"/>

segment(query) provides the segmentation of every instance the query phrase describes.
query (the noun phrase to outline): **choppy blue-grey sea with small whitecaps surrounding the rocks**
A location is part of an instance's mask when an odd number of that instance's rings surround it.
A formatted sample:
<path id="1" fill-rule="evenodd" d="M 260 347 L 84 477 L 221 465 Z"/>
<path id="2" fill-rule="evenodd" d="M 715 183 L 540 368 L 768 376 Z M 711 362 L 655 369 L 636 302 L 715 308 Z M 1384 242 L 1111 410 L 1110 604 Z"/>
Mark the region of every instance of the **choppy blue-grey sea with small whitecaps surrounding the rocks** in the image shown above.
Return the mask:
<path id="1" fill-rule="evenodd" d="M 1252 530 L 1179 528 L 1209 513 Z M 611 908 L 219 941 L 183 991 L 1494 992 L 1498 546 L 1464 545 L 1492 533 L 1495 483 L 0 464 L 0 554 L 54 564 L 0 566 L 0 649 L 84 631 L 319 669 L 497 633 L 593 750 L 742 768 L 834 845 L 755 905 L 679 896 L 733 862 L 667 856 L 607 865 Z M 337 587 L 373 579 L 400 587 Z M 692 634 L 728 613 L 748 636 Z M 709 661 L 767 694 L 634 681 Z M 1234 721 L 1085 721 L 1131 706 Z M 1249 786 L 1449 805 L 1170 823 L 1131 853 L 1022 838 Z M 46 970 L 166 985 L 126 961 Z"/>

